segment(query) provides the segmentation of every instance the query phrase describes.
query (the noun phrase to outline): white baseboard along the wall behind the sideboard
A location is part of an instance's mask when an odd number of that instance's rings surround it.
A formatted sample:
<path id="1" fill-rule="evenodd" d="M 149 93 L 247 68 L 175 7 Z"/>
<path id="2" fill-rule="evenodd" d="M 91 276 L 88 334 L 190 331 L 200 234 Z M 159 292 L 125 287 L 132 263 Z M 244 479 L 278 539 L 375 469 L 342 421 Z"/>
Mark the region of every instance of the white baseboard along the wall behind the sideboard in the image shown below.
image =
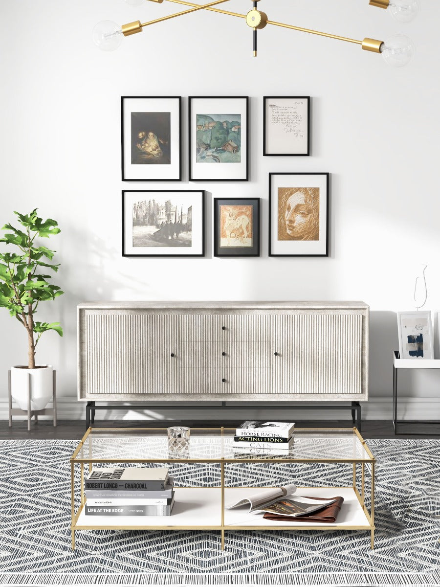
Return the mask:
<path id="1" fill-rule="evenodd" d="M 13 407 L 16 407 L 13 404 Z M 47 406 L 52 407 L 52 402 Z M 398 419 L 401 420 L 440 420 L 440 398 L 438 397 L 401 397 L 399 398 Z M 390 397 L 372 397 L 368 402 L 361 402 L 363 420 L 391 420 L 392 399 Z M 289 409 L 289 418 L 295 416 L 297 420 L 343 420 L 350 418 L 348 410 L 326 410 L 325 407 L 313 410 Z M 220 416 L 221 414 L 221 416 Z M 77 402 L 73 397 L 59 397 L 57 399 L 58 420 L 85 420 L 86 404 Z M 97 410 L 97 420 L 245 420 L 268 418 L 268 411 L 264 408 L 249 410 L 234 410 L 222 408 L 214 410 L 191 410 L 180 408 L 175 410 L 137 410 L 127 406 L 127 410 Z M 286 410 L 271 410 L 270 417 L 285 419 Z M 13 416 L 14 420 L 25 420 L 26 414 Z M 40 416 L 40 419 L 51 420 L 52 416 Z M 8 420 L 8 399 L 0 398 L 0 420 Z"/>

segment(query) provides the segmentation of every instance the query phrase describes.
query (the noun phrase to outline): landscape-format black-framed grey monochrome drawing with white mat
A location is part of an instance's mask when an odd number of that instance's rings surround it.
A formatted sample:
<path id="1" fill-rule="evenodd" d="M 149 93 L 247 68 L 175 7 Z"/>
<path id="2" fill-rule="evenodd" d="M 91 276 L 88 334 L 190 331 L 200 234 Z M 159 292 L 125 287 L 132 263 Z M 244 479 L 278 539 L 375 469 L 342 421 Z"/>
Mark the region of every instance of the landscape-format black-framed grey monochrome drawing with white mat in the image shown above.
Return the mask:
<path id="1" fill-rule="evenodd" d="M 124 190 L 123 257 L 204 257 L 204 190 Z"/>

